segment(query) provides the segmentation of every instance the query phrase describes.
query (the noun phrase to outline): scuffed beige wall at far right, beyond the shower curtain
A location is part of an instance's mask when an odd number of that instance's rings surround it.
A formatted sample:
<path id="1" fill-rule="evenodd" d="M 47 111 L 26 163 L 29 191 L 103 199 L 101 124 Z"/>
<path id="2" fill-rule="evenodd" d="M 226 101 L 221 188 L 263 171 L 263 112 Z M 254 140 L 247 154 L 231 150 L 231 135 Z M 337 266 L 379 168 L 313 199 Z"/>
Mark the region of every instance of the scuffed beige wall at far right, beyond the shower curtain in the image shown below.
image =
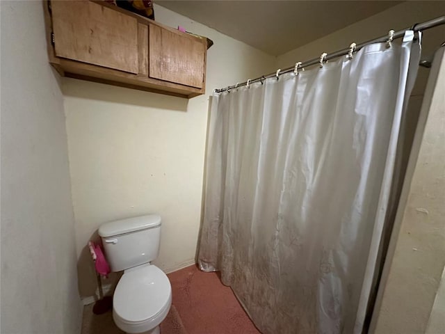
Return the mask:
<path id="1" fill-rule="evenodd" d="M 445 266 L 444 48 L 431 72 L 371 333 L 425 333 L 430 318 L 437 324 L 432 310 Z"/>

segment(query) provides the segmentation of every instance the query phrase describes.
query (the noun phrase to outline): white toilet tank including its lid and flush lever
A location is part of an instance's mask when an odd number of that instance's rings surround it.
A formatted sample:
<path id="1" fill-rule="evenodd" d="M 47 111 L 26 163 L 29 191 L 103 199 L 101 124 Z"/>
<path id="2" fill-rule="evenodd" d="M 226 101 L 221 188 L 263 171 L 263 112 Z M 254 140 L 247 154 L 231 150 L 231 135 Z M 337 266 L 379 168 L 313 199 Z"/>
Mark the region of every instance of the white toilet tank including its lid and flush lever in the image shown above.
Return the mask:
<path id="1" fill-rule="evenodd" d="M 158 257 L 161 216 L 148 214 L 110 221 L 99 227 L 106 260 L 111 271 L 121 271 Z"/>

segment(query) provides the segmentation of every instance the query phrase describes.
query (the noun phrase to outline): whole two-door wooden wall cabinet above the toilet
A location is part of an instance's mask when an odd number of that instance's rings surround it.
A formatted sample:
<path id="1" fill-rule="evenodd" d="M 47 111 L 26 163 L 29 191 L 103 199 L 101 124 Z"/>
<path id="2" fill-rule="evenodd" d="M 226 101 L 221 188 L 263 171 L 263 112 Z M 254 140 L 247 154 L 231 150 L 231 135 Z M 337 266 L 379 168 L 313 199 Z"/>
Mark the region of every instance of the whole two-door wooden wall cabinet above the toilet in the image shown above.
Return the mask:
<path id="1" fill-rule="evenodd" d="M 191 98 L 207 40 L 104 1 L 44 1 L 49 63 L 63 76 Z"/>

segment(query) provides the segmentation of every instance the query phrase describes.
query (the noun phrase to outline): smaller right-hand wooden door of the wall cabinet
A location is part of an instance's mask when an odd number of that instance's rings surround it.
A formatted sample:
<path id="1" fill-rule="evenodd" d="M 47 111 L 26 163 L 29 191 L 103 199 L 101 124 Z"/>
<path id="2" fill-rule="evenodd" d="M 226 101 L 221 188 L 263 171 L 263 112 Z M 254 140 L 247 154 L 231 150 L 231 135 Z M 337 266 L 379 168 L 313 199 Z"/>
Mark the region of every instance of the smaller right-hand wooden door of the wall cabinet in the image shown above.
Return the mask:
<path id="1" fill-rule="evenodd" d="M 199 38 L 149 25 L 149 77 L 202 88 L 205 54 Z"/>

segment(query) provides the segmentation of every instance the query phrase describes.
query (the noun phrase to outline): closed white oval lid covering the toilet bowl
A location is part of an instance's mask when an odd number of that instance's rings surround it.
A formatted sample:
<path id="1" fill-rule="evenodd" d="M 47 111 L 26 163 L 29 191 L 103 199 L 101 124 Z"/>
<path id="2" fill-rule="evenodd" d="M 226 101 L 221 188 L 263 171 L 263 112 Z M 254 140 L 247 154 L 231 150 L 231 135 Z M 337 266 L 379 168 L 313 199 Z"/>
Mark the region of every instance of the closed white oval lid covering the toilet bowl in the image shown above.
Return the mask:
<path id="1" fill-rule="evenodd" d="M 134 269 L 120 278 L 113 296 L 113 309 L 125 321 L 145 321 L 165 308 L 171 293 L 170 281 L 158 267 Z"/>

